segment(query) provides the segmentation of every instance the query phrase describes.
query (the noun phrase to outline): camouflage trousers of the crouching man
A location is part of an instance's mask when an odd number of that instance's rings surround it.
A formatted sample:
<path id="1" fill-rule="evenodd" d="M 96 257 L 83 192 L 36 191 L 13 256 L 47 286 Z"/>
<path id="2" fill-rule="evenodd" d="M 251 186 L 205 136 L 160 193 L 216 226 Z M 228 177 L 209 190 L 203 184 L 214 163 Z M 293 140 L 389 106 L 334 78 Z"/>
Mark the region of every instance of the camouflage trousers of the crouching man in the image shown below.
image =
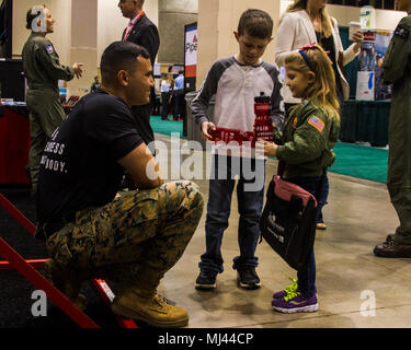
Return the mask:
<path id="1" fill-rule="evenodd" d="M 191 182 L 129 191 L 77 212 L 75 222 L 48 237 L 47 248 L 61 268 L 156 288 L 183 255 L 203 207 L 203 195 Z"/>

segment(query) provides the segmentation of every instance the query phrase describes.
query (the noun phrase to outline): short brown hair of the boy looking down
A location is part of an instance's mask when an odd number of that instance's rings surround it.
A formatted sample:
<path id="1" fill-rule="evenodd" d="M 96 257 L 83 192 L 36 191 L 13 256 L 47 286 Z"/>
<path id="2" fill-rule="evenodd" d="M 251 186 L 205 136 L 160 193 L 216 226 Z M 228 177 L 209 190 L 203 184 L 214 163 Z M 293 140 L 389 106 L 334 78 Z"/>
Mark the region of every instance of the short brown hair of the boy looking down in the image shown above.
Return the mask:
<path id="1" fill-rule="evenodd" d="M 262 10 L 249 9 L 241 14 L 238 23 L 238 34 L 259 37 L 262 39 L 270 38 L 273 35 L 273 19 Z"/>

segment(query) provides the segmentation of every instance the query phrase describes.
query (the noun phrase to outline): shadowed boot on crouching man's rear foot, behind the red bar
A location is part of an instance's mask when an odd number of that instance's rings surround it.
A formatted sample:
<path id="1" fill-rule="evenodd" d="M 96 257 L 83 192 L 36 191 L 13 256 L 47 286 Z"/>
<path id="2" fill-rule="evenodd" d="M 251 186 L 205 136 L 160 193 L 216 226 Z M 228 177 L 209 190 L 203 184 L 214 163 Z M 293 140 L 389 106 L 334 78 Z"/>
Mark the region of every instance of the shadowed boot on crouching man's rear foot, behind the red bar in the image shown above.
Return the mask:
<path id="1" fill-rule="evenodd" d="M 43 264 L 41 273 L 78 308 L 85 308 L 87 298 L 80 293 L 81 281 L 84 280 L 84 273 L 73 270 L 62 270 L 53 259 Z"/>

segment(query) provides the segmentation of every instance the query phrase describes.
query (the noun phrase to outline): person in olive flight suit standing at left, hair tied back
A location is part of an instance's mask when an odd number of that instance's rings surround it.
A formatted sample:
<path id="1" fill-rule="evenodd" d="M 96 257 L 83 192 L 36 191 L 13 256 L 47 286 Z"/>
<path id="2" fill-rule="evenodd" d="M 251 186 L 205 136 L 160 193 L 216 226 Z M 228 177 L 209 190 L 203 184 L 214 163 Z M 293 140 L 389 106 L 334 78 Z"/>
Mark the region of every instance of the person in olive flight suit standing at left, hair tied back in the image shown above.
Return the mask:
<path id="1" fill-rule="evenodd" d="M 54 33 L 55 20 L 45 5 L 35 5 L 27 11 L 26 28 L 32 33 L 23 47 L 23 67 L 28 91 L 26 106 L 30 113 L 31 149 L 28 154 L 32 197 L 37 190 L 38 168 L 42 152 L 53 131 L 66 118 L 61 107 L 58 80 L 71 80 L 82 74 L 82 63 L 62 66 L 46 35 Z"/>

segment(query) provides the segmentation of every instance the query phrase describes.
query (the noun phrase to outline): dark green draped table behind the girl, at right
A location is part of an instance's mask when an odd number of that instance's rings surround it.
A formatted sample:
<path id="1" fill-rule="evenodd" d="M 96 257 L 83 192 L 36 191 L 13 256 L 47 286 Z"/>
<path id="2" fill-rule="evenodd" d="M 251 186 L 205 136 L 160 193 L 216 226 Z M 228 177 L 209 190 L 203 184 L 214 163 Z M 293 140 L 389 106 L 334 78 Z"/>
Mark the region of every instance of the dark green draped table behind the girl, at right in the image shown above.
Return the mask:
<path id="1" fill-rule="evenodd" d="M 341 110 L 340 140 L 388 144 L 390 101 L 346 101 Z"/>

